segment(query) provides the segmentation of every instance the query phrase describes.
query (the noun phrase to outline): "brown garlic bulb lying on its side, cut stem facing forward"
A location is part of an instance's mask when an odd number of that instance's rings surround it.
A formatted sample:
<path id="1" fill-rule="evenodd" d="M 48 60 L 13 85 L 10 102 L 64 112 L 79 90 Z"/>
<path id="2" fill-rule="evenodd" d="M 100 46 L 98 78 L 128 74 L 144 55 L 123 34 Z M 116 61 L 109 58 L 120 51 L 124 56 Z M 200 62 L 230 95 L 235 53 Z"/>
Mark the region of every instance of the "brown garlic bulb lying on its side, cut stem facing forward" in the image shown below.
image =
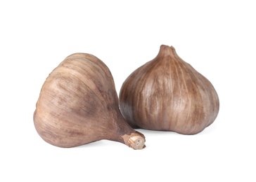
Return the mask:
<path id="1" fill-rule="evenodd" d="M 133 130 L 120 113 L 108 67 L 85 53 L 66 57 L 46 78 L 34 111 L 34 127 L 54 146 L 108 139 L 134 149 L 145 147 L 143 134 Z"/>

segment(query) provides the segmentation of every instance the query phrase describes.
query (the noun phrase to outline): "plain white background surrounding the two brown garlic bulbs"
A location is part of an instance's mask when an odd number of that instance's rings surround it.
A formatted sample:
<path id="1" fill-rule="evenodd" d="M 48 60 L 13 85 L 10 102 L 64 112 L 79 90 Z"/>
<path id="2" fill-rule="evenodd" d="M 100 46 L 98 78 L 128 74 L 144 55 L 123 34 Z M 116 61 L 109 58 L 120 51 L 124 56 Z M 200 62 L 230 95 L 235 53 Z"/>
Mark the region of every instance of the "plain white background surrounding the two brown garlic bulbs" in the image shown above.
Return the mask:
<path id="1" fill-rule="evenodd" d="M 255 1 L 0 1 L 0 181 L 256 181 Z M 146 148 L 114 141 L 58 148 L 33 124 L 41 85 L 87 52 L 117 93 L 160 45 L 208 78 L 215 123 L 200 134 L 139 130 Z"/>

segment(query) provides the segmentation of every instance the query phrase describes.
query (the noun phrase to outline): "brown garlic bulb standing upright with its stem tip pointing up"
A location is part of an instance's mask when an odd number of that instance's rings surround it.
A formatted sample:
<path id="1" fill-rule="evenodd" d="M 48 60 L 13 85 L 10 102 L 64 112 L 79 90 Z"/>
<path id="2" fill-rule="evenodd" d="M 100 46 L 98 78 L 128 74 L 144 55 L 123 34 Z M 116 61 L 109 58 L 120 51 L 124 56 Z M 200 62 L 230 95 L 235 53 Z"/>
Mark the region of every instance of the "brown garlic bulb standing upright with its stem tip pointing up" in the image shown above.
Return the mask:
<path id="1" fill-rule="evenodd" d="M 124 81 L 120 110 L 134 128 L 197 134 L 217 118 L 219 97 L 172 46 L 161 45 L 155 59 Z"/>

